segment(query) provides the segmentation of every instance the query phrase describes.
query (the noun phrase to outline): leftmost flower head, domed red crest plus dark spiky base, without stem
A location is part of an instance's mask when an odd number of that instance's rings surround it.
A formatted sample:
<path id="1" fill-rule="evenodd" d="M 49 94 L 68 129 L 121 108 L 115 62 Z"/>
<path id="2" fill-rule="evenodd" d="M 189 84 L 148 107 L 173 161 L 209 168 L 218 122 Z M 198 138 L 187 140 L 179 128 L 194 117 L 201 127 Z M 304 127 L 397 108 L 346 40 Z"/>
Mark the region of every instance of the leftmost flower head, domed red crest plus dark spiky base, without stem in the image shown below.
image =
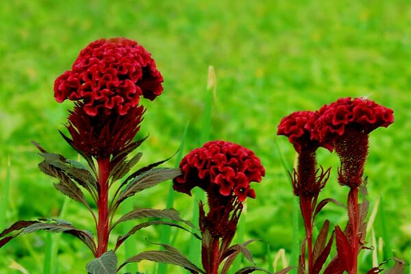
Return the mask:
<path id="1" fill-rule="evenodd" d="M 140 97 L 155 99 L 163 78 L 151 54 L 126 38 L 90 43 L 55 80 L 58 102 L 75 101 L 67 128 L 84 155 L 106 158 L 127 148 L 140 129 Z"/>

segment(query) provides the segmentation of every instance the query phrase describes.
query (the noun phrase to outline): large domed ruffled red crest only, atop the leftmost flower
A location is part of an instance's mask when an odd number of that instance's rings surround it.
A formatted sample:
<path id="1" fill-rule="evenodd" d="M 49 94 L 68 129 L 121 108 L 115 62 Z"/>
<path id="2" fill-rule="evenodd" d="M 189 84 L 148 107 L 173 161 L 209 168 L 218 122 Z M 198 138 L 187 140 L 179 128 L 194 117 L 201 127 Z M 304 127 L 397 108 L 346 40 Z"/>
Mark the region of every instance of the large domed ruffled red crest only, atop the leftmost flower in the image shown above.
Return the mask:
<path id="1" fill-rule="evenodd" d="M 153 100 L 162 93 L 163 78 L 151 54 L 126 38 L 90 43 L 70 71 L 55 79 L 54 96 L 79 102 L 86 114 L 116 112 L 125 115 L 136 108 L 140 96 Z"/>

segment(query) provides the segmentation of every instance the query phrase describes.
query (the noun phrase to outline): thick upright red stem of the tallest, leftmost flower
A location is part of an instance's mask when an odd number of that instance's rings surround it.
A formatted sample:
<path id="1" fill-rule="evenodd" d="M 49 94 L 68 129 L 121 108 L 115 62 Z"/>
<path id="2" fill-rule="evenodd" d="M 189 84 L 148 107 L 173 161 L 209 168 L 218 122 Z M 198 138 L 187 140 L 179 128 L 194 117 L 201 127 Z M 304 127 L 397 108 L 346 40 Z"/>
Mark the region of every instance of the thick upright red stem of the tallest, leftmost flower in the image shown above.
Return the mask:
<path id="1" fill-rule="evenodd" d="M 103 253 L 107 252 L 109 238 L 109 215 L 108 210 L 108 176 L 110 175 L 110 158 L 99 158 L 99 200 L 97 206 L 99 208 L 99 223 L 97 225 L 97 254 L 99 258 Z"/>

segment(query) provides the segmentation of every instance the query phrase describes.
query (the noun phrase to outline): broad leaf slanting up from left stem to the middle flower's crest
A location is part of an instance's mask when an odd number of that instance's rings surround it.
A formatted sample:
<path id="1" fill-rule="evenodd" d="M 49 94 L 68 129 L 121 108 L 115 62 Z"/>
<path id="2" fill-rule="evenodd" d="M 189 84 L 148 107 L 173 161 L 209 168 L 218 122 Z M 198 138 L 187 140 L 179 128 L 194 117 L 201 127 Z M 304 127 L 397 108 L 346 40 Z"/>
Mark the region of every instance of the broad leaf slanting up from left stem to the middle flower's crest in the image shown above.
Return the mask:
<path id="1" fill-rule="evenodd" d="M 119 195 L 117 205 L 128 197 L 132 197 L 137 192 L 157 186 L 161 182 L 173 179 L 181 174 L 182 171 L 180 169 L 151 169 L 146 171 L 127 184 Z"/>

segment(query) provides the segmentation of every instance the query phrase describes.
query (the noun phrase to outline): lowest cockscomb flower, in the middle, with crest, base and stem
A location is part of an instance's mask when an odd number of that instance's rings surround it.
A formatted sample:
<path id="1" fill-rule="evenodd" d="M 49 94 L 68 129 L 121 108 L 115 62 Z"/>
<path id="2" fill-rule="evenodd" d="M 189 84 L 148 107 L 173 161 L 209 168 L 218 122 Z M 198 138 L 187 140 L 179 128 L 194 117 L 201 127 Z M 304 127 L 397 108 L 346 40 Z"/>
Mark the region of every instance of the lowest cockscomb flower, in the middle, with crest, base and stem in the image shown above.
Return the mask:
<path id="1" fill-rule="evenodd" d="M 250 183 L 261 182 L 264 167 L 253 151 L 225 141 L 207 142 L 194 149 L 179 166 L 182 175 L 173 181 L 175 190 L 190 195 L 192 188 L 198 186 L 207 193 L 207 214 L 200 204 L 201 254 L 206 273 L 216 274 L 228 256 L 226 251 L 236 232 L 242 202 L 247 197 L 256 198 Z"/>

